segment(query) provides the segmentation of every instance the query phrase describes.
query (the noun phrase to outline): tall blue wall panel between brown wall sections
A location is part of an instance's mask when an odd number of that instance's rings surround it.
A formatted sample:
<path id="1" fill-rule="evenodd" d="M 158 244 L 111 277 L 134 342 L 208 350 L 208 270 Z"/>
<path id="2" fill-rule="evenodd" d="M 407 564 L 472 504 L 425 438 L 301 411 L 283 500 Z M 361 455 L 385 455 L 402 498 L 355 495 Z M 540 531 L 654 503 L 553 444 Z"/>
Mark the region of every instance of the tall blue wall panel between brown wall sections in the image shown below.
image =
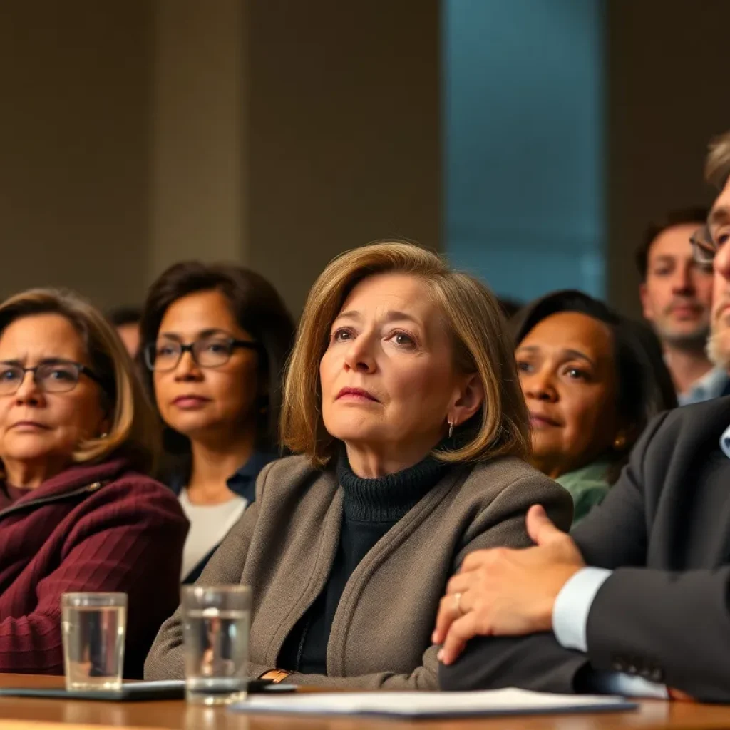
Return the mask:
<path id="1" fill-rule="evenodd" d="M 502 296 L 603 296 L 601 1 L 443 12 L 448 258 Z"/>

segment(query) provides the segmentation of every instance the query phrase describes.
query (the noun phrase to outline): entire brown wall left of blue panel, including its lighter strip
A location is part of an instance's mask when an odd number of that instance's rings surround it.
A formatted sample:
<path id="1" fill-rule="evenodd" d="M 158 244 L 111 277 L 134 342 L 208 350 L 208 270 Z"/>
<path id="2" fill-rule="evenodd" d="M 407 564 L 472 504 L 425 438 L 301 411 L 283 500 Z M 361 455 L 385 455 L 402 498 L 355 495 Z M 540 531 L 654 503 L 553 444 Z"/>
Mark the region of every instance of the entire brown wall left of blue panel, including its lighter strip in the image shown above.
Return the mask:
<path id="1" fill-rule="evenodd" d="M 438 0 L 1 3 L 0 88 L 0 295 L 199 257 L 298 314 L 342 250 L 439 245 Z"/>

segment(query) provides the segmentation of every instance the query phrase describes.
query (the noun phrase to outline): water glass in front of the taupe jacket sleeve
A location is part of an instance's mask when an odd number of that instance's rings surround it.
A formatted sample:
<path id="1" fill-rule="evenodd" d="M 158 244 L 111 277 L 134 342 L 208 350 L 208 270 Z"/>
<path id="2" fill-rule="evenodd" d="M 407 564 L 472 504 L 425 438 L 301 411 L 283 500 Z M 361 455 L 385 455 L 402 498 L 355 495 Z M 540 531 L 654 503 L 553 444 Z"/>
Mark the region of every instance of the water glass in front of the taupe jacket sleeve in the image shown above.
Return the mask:
<path id="1" fill-rule="evenodd" d="M 245 699 L 251 591 L 246 585 L 184 585 L 183 639 L 188 702 Z"/>

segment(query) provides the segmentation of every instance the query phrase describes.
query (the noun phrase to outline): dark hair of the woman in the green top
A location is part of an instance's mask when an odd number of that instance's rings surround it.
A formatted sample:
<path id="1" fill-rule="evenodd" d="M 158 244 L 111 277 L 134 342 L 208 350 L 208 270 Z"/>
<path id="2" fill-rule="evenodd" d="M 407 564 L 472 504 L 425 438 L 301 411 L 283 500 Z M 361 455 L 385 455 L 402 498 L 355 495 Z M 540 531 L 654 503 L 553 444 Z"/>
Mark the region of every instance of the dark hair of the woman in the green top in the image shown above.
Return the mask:
<path id="1" fill-rule="evenodd" d="M 512 320 L 515 347 L 542 320 L 559 312 L 578 312 L 606 324 L 613 337 L 615 353 L 618 417 L 626 424 L 625 448 L 610 453 L 612 465 L 607 474 L 610 483 L 618 479 L 629 450 L 647 423 L 662 411 L 677 407 L 672 376 L 664 364 L 661 345 L 653 330 L 614 312 L 592 296 L 566 289 L 556 291 L 529 304 Z"/>

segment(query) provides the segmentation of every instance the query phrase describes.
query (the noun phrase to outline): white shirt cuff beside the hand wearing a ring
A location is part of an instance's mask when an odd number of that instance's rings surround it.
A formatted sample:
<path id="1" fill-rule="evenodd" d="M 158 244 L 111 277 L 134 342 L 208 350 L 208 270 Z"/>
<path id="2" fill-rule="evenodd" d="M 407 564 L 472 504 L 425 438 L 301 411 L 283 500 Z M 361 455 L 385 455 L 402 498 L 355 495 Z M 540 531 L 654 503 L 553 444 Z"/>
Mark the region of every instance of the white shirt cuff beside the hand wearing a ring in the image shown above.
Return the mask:
<path id="1" fill-rule="evenodd" d="M 566 649 L 588 651 L 588 613 L 610 570 L 581 568 L 563 586 L 553 606 L 553 633 Z"/>

